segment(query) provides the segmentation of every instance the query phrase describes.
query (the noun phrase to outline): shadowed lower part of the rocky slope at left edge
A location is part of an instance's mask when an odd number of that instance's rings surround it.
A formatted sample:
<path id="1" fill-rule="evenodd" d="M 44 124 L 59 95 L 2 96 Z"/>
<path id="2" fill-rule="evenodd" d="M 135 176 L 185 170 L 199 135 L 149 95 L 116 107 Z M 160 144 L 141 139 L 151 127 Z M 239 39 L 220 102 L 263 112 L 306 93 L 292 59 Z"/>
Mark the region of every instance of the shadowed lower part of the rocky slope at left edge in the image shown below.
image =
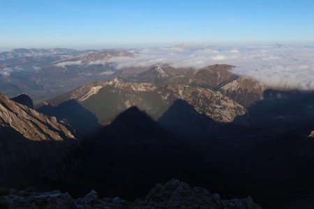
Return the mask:
<path id="1" fill-rule="evenodd" d="M 0 126 L 0 185 L 48 190 L 50 181 L 69 178 L 81 152 L 76 139 L 34 141 Z"/>

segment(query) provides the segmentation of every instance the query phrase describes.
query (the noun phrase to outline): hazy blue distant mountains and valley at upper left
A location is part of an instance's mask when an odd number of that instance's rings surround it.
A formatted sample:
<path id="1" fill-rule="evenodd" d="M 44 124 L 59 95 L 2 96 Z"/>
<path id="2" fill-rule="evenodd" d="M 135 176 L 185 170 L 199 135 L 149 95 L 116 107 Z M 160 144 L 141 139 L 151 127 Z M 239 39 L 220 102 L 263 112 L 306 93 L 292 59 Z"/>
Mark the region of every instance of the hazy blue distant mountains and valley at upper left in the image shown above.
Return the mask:
<path id="1" fill-rule="evenodd" d="M 92 80 L 106 80 L 117 75 L 108 59 L 131 57 L 121 50 L 13 49 L 2 52 L 0 91 L 16 96 L 13 86 L 38 102 L 70 91 Z M 1 53 L 0 53 L 1 57 Z M 11 86 L 9 86 L 11 85 Z"/>

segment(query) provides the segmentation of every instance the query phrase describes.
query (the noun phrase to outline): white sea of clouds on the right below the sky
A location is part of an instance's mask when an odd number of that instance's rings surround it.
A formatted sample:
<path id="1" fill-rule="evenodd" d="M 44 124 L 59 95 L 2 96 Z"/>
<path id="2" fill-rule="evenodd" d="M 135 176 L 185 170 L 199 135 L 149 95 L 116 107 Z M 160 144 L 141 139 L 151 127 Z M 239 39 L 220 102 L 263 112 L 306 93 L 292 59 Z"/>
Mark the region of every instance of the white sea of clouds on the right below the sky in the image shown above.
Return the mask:
<path id="1" fill-rule="evenodd" d="M 202 68 L 234 65 L 237 75 L 248 75 L 268 86 L 314 90 L 314 47 L 304 45 L 252 45 L 246 47 L 163 47 L 140 49 L 135 57 L 113 57 L 115 68 L 170 64 Z"/>

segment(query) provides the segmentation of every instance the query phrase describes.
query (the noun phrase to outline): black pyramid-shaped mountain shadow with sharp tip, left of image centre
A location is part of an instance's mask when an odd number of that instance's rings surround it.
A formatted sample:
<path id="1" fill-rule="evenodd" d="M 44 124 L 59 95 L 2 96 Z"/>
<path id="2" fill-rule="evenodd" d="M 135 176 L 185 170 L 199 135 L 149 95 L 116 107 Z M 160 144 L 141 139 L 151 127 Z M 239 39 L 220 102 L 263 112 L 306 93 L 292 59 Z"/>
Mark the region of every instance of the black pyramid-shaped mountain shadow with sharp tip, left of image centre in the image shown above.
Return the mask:
<path id="1" fill-rule="evenodd" d="M 83 144 L 80 189 L 134 199 L 171 178 L 207 185 L 220 178 L 198 153 L 137 107 L 130 107 Z M 210 173 L 210 176 L 208 174 Z M 74 189 L 77 194 L 77 189 Z"/>

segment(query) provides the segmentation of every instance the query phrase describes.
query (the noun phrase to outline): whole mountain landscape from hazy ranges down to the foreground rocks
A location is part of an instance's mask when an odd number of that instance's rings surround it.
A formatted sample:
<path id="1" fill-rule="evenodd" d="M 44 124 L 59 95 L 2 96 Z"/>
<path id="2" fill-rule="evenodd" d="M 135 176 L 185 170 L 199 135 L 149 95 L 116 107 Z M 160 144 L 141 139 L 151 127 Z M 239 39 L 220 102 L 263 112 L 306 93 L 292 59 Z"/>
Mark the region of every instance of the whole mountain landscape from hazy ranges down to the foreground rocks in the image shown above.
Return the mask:
<path id="1" fill-rule="evenodd" d="M 135 56 L 1 53 L 1 185 L 133 201 L 178 178 L 265 208 L 314 196 L 313 91 L 271 88 L 233 65 L 111 62 Z"/>

